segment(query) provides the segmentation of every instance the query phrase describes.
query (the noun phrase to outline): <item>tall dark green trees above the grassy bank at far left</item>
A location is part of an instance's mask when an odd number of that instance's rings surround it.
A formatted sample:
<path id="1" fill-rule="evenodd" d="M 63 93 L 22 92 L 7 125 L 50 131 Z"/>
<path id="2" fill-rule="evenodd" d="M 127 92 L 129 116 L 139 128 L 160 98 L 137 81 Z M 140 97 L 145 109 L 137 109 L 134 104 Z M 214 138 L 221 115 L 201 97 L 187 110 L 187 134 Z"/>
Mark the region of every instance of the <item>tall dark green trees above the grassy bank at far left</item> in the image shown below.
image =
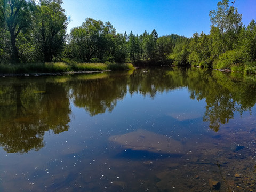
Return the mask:
<path id="1" fill-rule="evenodd" d="M 69 18 L 61 0 L 0 0 L 2 62 L 52 61 L 61 57 Z"/>

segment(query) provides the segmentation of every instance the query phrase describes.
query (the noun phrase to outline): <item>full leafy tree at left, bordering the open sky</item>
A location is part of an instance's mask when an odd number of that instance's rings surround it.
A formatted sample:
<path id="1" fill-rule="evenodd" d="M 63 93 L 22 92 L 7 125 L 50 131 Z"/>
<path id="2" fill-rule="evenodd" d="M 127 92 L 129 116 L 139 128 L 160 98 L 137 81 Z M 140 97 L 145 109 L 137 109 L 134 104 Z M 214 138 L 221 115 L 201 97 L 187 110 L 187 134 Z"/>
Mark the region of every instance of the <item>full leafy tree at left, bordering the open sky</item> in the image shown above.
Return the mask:
<path id="1" fill-rule="evenodd" d="M 58 57 L 65 43 L 69 18 L 61 7 L 62 1 L 41 1 L 36 15 L 35 37 L 43 60 L 50 62 Z"/>

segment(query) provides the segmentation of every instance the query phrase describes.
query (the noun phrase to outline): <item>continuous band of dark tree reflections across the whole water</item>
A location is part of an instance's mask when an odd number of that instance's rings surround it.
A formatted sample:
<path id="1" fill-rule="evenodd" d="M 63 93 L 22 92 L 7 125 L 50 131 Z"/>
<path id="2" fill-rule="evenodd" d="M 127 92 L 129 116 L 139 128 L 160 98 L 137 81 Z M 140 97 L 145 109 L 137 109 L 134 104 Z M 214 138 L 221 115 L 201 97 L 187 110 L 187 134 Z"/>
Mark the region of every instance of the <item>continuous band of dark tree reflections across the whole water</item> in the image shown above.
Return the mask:
<path id="1" fill-rule="evenodd" d="M 3 78 L 0 86 L 0 145 L 7 153 L 44 147 L 44 134 L 68 131 L 70 102 L 91 116 L 112 111 L 127 94 L 155 99 L 157 93 L 186 87 L 190 98 L 205 100 L 203 121 L 214 131 L 251 111 L 256 81 L 240 74 L 202 69 L 137 69 L 58 77 Z M 125 109 L 124 109 L 125 110 Z M 185 118 L 188 119 L 188 118 Z M 181 118 L 182 121 L 182 118 Z"/>

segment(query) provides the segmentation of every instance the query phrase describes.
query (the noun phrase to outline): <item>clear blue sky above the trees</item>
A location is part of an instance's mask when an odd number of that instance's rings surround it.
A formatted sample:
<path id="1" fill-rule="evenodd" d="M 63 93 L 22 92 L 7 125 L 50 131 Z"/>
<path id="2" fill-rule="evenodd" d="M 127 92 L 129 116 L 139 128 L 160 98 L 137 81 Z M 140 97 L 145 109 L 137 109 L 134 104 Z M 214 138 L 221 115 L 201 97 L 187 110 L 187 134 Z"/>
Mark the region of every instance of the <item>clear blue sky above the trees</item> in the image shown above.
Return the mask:
<path id="1" fill-rule="evenodd" d="M 209 34 L 209 12 L 217 8 L 217 3 L 218 0 L 63 0 L 62 7 L 71 17 L 67 33 L 90 17 L 110 21 L 118 33 L 133 31 L 140 35 L 156 29 L 158 36 L 191 37 L 196 32 Z M 256 0 L 236 0 L 234 6 L 243 14 L 245 26 L 256 20 Z"/>

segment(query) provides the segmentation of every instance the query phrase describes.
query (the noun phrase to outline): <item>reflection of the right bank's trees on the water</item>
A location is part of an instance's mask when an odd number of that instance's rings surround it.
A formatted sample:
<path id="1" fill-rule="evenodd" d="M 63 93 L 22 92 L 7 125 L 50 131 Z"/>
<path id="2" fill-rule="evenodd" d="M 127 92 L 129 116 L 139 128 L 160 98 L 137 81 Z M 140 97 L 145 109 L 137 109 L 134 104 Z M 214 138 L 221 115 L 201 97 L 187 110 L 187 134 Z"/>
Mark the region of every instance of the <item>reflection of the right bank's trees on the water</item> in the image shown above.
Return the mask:
<path id="1" fill-rule="evenodd" d="M 205 99 L 206 110 L 203 121 L 209 122 L 211 129 L 217 132 L 221 124 L 226 124 L 234 118 L 235 112 L 241 115 L 244 111 L 251 112 L 256 103 L 256 90 L 252 89 L 255 82 L 245 82 L 243 78 L 233 78 L 231 77 L 232 74 L 221 73 L 216 70 L 203 75 L 201 72 L 195 70 L 193 73 L 191 71 L 188 73 L 190 77 L 195 76 L 195 74 L 203 77 L 197 78 L 197 81 L 201 79 L 201 83 L 188 87 L 192 99 Z M 190 78 L 190 82 L 193 82 L 192 78 Z"/>

